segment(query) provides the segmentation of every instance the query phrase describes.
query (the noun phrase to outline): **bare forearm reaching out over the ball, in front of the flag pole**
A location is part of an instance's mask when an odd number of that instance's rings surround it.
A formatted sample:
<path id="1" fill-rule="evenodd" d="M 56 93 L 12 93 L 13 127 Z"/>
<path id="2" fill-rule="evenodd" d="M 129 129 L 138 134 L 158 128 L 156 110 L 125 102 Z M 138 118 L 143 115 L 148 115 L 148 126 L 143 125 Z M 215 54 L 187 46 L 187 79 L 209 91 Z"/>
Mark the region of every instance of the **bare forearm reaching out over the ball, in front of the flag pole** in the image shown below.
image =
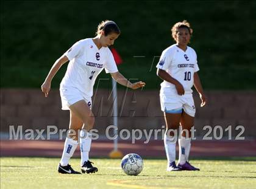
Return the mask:
<path id="1" fill-rule="evenodd" d="M 138 81 L 136 83 L 130 83 L 129 80 L 127 80 L 127 78 L 125 78 L 120 72 L 115 72 L 115 73 L 111 73 L 111 76 L 113 77 L 113 79 L 118 82 L 119 84 L 126 86 L 127 88 L 131 88 L 131 89 L 138 89 L 138 88 L 142 88 L 146 85 L 146 83 L 144 83 L 143 81 Z"/>

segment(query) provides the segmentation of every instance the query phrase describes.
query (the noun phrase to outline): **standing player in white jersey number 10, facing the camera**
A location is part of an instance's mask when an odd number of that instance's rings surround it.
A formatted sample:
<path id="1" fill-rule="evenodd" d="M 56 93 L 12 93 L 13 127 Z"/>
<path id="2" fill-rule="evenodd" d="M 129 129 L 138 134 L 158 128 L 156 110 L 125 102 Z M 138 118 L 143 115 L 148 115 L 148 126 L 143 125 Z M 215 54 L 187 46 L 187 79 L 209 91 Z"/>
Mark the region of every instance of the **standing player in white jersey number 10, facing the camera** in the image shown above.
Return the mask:
<path id="1" fill-rule="evenodd" d="M 197 66 L 194 49 L 188 46 L 193 30 L 187 21 L 177 22 L 171 29 L 172 38 L 176 44 L 163 50 L 157 64 L 157 75 L 162 78 L 160 89 L 160 104 L 165 115 L 166 132 L 164 137 L 165 151 L 168 160 L 167 171 L 199 170 L 188 162 L 191 146 L 191 127 L 194 125 L 196 109 L 192 95 L 192 86 L 196 88 L 202 100 L 206 103 Z M 176 165 L 177 128 L 184 130 L 179 138 L 179 162 Z M 186 137 L 185 129 L 188 131 Z"/>

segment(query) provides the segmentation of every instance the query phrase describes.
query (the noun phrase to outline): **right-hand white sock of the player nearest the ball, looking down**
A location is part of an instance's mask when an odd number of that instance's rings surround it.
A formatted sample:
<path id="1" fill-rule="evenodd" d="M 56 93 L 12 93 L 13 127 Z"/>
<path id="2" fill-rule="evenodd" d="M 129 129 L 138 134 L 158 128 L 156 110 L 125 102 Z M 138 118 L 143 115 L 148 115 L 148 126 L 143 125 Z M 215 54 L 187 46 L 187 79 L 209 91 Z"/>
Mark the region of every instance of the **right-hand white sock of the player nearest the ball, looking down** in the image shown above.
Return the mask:
<path id="1" fill-rule="evenodd" d="M 80 151 L 81 166 L 89 160 L 89 151 L 91 148 L 91 134 L 85 130 L 80 131 Z"/>

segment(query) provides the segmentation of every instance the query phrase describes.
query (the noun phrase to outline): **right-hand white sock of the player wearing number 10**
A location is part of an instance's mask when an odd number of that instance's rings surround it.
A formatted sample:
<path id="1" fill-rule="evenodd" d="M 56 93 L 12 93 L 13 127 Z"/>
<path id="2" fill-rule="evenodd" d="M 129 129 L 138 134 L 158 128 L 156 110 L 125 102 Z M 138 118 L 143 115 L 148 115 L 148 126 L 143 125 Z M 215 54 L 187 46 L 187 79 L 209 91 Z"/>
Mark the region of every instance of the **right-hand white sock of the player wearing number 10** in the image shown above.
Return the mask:
<path id="1" fill-rule="evenodd" d="M 190 154 L 191 138 L 186 139 L 181 137 L 179 139 L 179 164 L 183 165 L 188 160 Z"/>

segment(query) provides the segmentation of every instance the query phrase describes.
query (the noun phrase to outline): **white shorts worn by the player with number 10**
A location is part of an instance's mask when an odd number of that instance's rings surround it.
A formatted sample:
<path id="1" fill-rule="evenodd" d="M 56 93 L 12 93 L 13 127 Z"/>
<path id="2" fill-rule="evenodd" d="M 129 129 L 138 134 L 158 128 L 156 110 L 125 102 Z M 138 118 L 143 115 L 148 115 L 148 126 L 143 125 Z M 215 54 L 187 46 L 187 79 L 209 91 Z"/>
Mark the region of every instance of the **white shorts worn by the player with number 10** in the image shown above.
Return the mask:
<path id="1" fill-rule="evenodd" d="M 192 94 L 160 94 L 160 104 L 163 112 L 175 114 L 180 113 L 183 109 L 183 111 L 185 111 L 191 117 L 194 117 L 196 114 L 196 108 L 194 107 L 194 99 Z"/>

